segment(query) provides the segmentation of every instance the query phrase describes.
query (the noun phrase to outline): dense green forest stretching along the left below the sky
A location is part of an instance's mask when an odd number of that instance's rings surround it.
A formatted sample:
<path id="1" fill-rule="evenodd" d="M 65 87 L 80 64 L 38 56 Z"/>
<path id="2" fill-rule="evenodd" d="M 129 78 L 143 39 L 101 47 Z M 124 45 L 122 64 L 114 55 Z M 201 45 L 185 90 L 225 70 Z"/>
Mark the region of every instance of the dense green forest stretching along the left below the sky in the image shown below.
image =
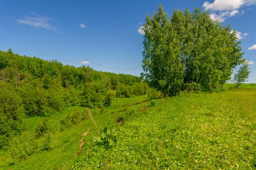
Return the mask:
<path id="1" fill-rule="evenodd" d="M 22 133 L 24 118 L 76 105 L 109 107 L 113 98 L 145 95 L 148 90 L 137 76 L 0 51 L 0 148 Z"/>

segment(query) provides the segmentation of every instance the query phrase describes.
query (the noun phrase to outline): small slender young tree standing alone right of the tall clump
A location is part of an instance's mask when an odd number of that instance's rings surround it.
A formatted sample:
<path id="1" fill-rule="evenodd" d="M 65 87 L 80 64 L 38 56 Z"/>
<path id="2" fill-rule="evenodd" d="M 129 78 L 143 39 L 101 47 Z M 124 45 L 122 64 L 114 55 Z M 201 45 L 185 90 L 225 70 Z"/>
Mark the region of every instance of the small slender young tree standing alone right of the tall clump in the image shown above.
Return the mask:
<path id="1" fill-rule="evenodd" d="M 248 64 L 245 63 L 243 66 L 241 66 L 237 73 L 234 75 L 234 78 L 232 80 L 233 83 L 235 83 L 236 89 L 241 86 L 244 82 L 248 81 L 250 75 L 250 68 L 248 67 Z"/>

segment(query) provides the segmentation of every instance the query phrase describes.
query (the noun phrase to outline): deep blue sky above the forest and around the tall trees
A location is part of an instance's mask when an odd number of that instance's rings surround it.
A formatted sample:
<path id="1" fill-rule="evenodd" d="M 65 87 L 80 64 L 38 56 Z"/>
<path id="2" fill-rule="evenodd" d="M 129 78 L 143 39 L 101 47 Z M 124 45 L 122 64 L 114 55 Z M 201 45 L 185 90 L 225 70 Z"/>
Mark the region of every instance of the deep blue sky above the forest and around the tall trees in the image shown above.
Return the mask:
<path id="1" fill-rule="evenodd" d="M 12 48 L 20 55 L 140 75 L 140 23 L 159 3 L 169 16 L 175 8 L 199 7 L 211 10 L 213 20 L 230 23 L 239 32 L 244 58 L 251 61 L 249 83 L 256 83 L 256 0 L 2 0 L 0 50 Z"/>

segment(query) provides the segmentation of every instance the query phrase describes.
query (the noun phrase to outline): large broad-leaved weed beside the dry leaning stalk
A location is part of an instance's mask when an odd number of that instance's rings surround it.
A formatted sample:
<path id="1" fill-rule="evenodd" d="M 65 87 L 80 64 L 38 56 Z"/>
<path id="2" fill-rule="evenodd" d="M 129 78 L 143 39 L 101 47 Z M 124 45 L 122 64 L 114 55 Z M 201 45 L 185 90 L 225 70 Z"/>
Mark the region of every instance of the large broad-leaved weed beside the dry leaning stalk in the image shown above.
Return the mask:
<path id="1" fill-rule="evenodd" d="M 93 142 L 98 146 L 103 146 L 109 149 L 117 142 L 117 135 L 119 130 L 116 127 L 101 127 L 102 132 L 100 136 L 92 136 Z"/>

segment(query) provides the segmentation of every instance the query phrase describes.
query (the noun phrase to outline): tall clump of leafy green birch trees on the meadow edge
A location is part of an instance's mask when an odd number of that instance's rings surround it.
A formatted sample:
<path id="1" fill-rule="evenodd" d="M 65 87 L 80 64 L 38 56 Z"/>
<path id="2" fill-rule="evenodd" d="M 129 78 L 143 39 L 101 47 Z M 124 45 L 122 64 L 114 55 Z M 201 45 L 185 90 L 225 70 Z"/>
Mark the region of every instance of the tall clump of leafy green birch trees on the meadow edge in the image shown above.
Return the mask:
<path id="1" fill-rule="evenodd" d="M 182 88 L 218 91 L 244 62 L 237 32 L 213 21 L 207 11 L 175 9 L 169 19 L 160 4 L 145 20 L 141 77 L 166 95 Z"/>

